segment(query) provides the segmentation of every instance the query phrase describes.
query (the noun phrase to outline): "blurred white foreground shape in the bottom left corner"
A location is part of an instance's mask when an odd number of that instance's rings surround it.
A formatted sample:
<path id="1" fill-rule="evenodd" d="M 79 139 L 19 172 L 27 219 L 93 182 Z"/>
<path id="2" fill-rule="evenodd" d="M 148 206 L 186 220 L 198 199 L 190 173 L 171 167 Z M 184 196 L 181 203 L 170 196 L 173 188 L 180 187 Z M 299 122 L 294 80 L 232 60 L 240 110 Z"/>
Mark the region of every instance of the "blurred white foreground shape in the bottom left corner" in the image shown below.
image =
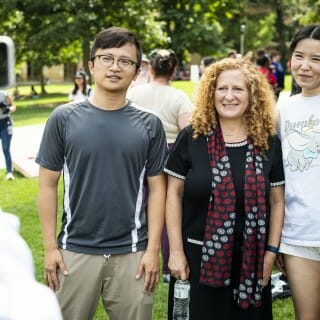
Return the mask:
<path id="1" fill-rule="evenodd" d="M 0 211 L 0 319 L 62 320 L 54 292 L 36 281 L 19 219 Z"/>

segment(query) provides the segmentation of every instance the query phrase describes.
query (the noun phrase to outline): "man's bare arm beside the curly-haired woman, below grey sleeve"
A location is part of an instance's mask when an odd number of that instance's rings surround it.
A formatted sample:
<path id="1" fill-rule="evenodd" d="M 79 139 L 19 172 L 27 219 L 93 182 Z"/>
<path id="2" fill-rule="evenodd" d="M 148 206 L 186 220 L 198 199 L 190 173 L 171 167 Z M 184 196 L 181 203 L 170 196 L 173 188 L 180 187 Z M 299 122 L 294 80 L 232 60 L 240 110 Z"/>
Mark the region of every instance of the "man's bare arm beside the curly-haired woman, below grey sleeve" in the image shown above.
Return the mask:
<path id="1" fill-rule="evenodd" d="M 145 272 L 144 291 L 152 293 L 159 281 L 160 239 L 164 223 L 166 179 L 164 174 L 148 177 L 148 246 L 137 270 L 137 279 Z"/>

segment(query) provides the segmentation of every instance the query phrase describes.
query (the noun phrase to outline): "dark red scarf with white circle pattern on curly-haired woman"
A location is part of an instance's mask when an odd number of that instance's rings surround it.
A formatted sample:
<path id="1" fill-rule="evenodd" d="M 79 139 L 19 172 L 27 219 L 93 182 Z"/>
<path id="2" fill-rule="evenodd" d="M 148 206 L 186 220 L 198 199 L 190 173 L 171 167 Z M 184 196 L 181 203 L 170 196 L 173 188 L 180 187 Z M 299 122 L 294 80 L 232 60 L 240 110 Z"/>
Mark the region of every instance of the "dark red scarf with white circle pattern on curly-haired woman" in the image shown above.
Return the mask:
<path id="1" fill-rule="evenodd" d="M 208 136 L 212 195 L 202 248 L 200 283 L 229 286 L 234 246 L 236 195 L 230 162 L 219 126 Z M 236 292 L 241 308 L 261 306 L 266 239 L 265 179 L 261 151 L 248 139 L 245 163 L 244 214 L 240 282 Z"/>

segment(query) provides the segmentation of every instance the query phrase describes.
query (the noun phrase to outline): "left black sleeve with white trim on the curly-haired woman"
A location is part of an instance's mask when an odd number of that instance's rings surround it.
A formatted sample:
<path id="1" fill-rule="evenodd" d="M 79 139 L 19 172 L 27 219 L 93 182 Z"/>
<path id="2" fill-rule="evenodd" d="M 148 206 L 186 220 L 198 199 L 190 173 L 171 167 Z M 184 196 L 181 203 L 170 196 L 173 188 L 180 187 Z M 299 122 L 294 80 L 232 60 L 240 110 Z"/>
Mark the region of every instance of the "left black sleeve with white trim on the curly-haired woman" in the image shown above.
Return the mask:
<path id="1" fill-rule="evenodd" d="M 190 126 L 181 130 L 169 154 L 164 170 L 168 175 L 183 180 L 190 169 L 190 131 Z"/>

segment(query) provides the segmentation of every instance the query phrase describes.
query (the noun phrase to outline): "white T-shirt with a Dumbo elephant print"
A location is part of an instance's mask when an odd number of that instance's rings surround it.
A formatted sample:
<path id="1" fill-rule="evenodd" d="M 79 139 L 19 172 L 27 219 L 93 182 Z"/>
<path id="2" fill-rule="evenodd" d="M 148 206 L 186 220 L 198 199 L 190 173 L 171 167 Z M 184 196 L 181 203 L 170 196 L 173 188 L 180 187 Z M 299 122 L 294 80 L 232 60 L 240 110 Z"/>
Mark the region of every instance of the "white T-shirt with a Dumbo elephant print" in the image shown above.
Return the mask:
<path id="1" fill-rule="evenodd" d="M 281 242 L 320 247 L 320 96 L 278 104 L 285 171 Z"/>

